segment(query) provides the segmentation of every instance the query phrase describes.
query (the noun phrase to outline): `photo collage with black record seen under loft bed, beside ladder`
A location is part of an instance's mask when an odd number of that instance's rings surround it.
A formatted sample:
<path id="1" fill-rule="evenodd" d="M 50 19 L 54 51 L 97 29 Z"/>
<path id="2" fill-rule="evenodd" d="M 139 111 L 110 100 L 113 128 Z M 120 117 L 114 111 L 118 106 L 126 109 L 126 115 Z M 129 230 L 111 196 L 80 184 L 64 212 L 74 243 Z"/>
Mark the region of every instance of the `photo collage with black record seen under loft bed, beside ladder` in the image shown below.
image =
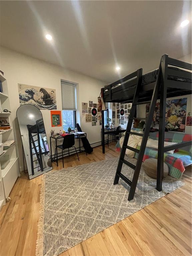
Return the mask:
<path id="1" fill-rule="evenodd" d="M 124 125 L 127 123 L 131 111 L 131 105 L 131 103 L 117 103 L 118 124 Z"/>

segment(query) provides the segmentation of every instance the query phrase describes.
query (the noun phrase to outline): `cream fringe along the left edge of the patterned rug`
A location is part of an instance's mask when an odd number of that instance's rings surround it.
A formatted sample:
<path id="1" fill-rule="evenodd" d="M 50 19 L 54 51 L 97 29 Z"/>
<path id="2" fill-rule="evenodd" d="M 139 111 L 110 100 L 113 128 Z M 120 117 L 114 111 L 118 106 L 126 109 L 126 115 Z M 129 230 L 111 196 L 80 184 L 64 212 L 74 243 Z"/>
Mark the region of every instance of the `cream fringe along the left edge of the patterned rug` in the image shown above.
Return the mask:
<path id="1" fill-rule="evenodd" d="M 39 221 L 38 221 L 37 241 L 36 241 L 36 250 L 35 250 L 36 256 L 43 255 L 44 203 L 45 203 L 45 174 L 43 174 L 41 178 Z"/>

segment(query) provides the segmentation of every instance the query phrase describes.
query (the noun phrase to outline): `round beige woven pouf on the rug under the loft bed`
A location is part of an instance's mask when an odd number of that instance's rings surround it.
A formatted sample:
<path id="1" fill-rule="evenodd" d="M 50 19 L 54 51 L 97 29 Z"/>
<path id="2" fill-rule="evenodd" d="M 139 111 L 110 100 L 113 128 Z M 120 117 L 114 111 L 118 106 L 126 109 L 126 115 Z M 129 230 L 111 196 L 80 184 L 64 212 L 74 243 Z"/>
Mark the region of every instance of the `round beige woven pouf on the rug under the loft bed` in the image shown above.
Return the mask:
<path id="1" fill-rule="evenodd" d="M 156 158 L 149 158 L 146 159 L 143 163 L 142 163 L 142 167 L 143 170 L 145 171 L 145 173 L 153 178 L 153 179 L 157 179 L 157 159 Z M 168 165 L 164 162 L 163 163 L 163 177 L 167 177 L 169 173 L 169 167 Z"/>

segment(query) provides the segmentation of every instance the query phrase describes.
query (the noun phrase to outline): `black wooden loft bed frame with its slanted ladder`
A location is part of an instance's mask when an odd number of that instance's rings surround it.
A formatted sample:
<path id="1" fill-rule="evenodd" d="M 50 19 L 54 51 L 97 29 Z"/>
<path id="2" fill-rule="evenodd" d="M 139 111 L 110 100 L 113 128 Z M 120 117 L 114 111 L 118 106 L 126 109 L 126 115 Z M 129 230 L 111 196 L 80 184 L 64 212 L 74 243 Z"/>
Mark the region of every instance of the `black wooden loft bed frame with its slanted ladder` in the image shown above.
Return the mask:
<path id="1" fill-rule="evenodd" d="M 191 76 L 192 73 L 183 69 L 169 67 L 168 65 L 179 67 L 187 70 L 192 70 L 192 65 L 183 61 L 170 58 L 168 55 L 163 55 L 160 61 L 159 69 L 156 70 L 156 79 L 150 79 L 145 82 L 145 78 L 151 73 L 142 75 L 142 69 L 138 69 L 132 74 L 112 83 L 101 89 L 101 96 L 104 102 L 126 102 L 132 103 L 131 112 L 127 124 L 125 138 L 121 149 L 119 163 L 116 170 L 114 185 L 119 182 L 119 178 L 123 179 L 131 188 L 128 200 L 134 198 L 135 189 L 141 169 L 143 155 L 146 148 L 146 143 L 152 123 L 153 113 L 157 99 L 160 99 L 160 118 L 159 118 L 159 141 L 158 141 L 158 162 L 157 162 L 157 187 L 158 191 L 162 190 L 163 180 L 163 163 L 164 152 L 174 150 L 191 145 L 191 141 L 177 143 L 175 145 L 164 147 L 165 138 L 165 112 L 166 112 L 166 98 L 191 94 Z M 152 82 L 150 82 L 152 80 Z M 138 133 L 131 132 L 132 121 L 136 118 L 137 105 L 150 103 L 149 115 L 146 119 L 146 127 L 140 150 L 127 146 L 129 135 Z M 102 111 L 103 115 L 103 111 Z M 138 119 L 138 117 L 137 117 Z M 102 121 L 104 117 L 102 116 Z M 102 137 L 104 137 L 104 123 L 102 122 Z M 103 144 L 103 148 L 105 145 Z M 124 159 L 126 149 L 130 149 L 139 153 L 136 165 Z M 104 150 L 103 150 L 104 153 Z M 133 180 L 130 181 L 121 173 L 122 165 L 126 164 L 134 169 Z"/>

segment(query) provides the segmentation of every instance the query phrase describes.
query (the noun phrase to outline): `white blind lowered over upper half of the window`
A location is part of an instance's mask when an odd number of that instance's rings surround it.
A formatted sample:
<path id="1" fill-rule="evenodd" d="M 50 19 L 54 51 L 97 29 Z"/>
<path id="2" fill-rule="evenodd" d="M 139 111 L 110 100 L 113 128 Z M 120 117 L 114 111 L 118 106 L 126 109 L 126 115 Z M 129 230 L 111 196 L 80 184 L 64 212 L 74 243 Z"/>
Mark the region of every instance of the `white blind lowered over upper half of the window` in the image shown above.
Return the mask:
<path id="1" fill-rule="evenodd" d="M 61 99 L 63 110 L 76 110 L 76 85 L 61 81 Z"/>

